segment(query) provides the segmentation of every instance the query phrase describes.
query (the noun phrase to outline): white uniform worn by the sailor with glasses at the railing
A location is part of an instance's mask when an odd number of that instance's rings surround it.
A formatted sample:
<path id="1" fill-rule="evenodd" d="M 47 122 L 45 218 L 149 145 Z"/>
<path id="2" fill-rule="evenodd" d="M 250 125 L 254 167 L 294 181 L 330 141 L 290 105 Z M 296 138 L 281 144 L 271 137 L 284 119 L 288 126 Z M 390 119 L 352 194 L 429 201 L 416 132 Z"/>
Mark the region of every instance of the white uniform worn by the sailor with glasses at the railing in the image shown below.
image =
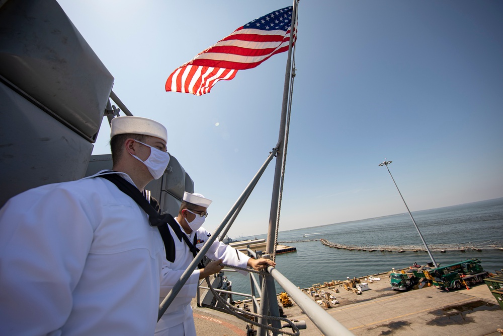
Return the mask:
<path id="1" fill-rule="evenodd" d="M 175 218 L 175 220 L 178 223 L 177 218 Z M 183 234 L 185 234 L 184 229 L 181 226 L 180 228 Z M 182 241 L 180 241 L 171 227 L 170 231 L 173 239 L 175 240 L 175 262 L 164 260 L 164 264 L 162 265 L 159 304 L 164 300 L 173 286 L 175 286 L 177 281 L 184 274 L 185 270 L 194 259 L 194 256 L 185 241 L 183 239 Z M 197 239 L 199 241 L 196 244 L 196 247 L 201 249 L 211 235 L 208 231 L 206 231 L 206 229 L 201 227 L 197 231 L 192 231 L 190 235 L 187 235 L 190 242 L 194 241 L 194 235 L 196 234 L 196 232 Z M 235 248 L 226 245 L 218 240 L 215 240 L 213 244 L 211 244 L 208 252 L 206 252 L 206 256 L 212 260 L 223 259 L 223 263 L 242 268 L 246 268 L 249 259 L 246 254 L 239 252 Z M 244 275 L 247 274 L 247 272 L 245 271 L 238 272 Z M 199 269 L 196 268 L 196 270 L 194 270 L 190 278 L 187 280 L 185 285 L 176 296 L 175 300 L 164 312 L 159 322 L 157 322 L 157 327 L 155 328 L 156 334 L 163 334 L 163 332 L 161 331 L 167 330 L 172 326 L 186 322 L 188 320 L 190 320 L 190 323 L 194 323 L 194 317 L 190 303 L 192 301 L 192 298 L 196 297 L 198 284 Z"/>

